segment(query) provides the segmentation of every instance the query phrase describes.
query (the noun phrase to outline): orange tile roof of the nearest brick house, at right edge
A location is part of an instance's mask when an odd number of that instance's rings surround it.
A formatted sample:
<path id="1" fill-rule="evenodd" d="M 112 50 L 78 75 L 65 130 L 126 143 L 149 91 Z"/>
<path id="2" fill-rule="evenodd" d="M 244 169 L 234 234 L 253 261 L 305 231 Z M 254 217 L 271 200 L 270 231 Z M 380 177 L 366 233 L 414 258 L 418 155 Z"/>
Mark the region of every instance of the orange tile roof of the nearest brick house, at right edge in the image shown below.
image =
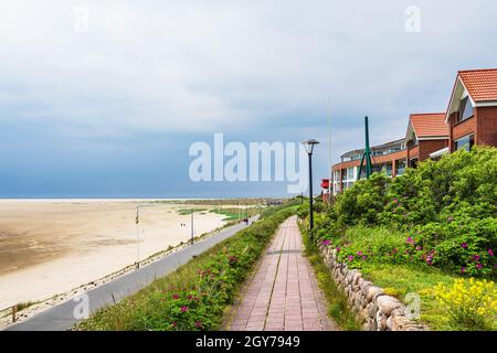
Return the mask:
<path id="1" fill-rule="evenodd" d="M 497 68 L 459 71 L 458 75 L 474 101 L 497 100 Z"/>

